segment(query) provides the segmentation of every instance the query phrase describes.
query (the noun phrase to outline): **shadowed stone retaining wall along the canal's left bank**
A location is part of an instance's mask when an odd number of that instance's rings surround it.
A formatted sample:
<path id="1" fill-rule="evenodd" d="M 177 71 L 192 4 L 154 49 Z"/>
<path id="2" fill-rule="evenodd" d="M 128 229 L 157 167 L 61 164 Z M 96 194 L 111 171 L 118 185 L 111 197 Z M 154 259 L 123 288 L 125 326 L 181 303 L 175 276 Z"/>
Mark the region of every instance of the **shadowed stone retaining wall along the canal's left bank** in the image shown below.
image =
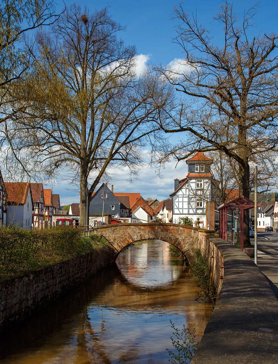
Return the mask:
<path id="1" fill-rule="evenodd" d="M 113 264 L 114 257 L 106 247 L 0 282 L 0 332 Z"/>

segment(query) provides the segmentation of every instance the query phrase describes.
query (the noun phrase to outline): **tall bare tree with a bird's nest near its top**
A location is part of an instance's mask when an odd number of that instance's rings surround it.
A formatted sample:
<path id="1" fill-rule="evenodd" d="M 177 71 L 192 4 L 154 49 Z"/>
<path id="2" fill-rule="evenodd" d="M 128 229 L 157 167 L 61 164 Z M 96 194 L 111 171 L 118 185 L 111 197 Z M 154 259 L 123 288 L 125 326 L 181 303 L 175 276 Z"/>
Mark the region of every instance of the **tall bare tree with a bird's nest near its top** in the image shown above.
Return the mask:
<path id="1" fill-rule="evenodd" d="M 50 32 L 38 33 L 33 72 L 24 87 L 19 84 L 25 91 L 7 126 L 19 156 L 28 151 L 48 175 L 59 167 L 74 171 L 81 225 L 87 183 L 90 202 L 107 167 L 136 173 L 142 148 L 160 135 L 158 113 L 163 118 L 172 106 L 171 87 L 158 73 L 137 77 L 136 48 L 117 38 L 122 30 L 107 8 L 66 8 Z"/>

